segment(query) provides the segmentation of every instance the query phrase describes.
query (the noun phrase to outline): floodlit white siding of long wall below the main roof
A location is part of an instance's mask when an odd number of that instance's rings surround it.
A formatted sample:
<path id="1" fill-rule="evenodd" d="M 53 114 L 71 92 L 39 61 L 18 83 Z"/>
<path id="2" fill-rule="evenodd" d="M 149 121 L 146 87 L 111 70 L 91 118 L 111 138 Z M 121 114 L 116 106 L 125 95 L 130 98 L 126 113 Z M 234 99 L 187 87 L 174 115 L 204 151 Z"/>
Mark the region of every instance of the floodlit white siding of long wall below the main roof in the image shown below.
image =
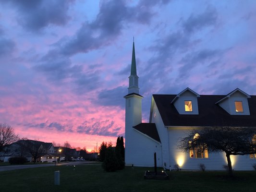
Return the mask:
<path id="1" fill-rule="evenodd" d="M 179 147 L 179 141 L 187 136 L 189 132 L 185 128 L 169 128 L 169 147 L 171 169 L 178 164 L 184 170 L 200 170 L 200 164 L 204 164 L 206 170 L 224 170 L 227 158 L 224 153 L 210 153 L 209 158 L 190 158 L 189 152 L 184 152 Z M 232 168 L 234 170 L 253 170 L 256 159 L 249 156 L 231 156 Z"/>

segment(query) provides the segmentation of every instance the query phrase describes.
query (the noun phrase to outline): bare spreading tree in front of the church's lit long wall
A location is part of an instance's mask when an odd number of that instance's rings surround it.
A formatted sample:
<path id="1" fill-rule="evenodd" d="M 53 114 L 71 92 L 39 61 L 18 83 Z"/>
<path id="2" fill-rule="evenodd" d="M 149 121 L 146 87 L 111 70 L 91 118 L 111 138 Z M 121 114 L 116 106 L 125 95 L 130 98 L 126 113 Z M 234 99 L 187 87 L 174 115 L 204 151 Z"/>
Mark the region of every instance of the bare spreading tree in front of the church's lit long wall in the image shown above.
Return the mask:
<path id="1" fill-rule="evenodd" d="M 232 176 L 230 156 L 256 154 L 256 142 L 253 141 L 255 134 L 256 128 L 202 127 L 183 138 L 180 147 L 185 151 L 196 149 L 200 153 L 206 149 L 210 152 L 224 152 Z"/>

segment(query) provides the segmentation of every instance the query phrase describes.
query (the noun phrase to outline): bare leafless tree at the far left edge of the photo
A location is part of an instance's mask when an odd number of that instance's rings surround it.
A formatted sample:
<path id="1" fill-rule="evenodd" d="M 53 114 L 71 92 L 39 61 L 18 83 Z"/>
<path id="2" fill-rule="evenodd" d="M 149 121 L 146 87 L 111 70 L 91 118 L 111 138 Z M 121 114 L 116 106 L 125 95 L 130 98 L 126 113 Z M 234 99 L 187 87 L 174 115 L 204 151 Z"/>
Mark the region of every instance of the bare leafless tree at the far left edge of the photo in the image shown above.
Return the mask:
<path id="1" fill-rule="evenodd" d="M 18 139 L 18 135 L 14 133 L 14 129 L 10 125 L 0 123 L 0 152 L 4 151 L 6 145 L 12 144 Z"/>

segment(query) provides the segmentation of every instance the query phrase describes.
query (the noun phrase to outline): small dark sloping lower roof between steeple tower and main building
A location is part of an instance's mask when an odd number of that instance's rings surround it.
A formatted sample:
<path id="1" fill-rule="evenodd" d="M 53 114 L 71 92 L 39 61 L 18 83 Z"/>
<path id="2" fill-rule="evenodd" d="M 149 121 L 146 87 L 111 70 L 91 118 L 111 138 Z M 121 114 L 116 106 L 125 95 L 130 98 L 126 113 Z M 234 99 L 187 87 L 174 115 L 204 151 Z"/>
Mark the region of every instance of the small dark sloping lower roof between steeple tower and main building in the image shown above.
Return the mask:
<path id="1" fill-rule="evenodd" d="M 133 128 L 138 130 L 139 132 L 146 134 L 147 136 L 151 137 L 152 139 L 154 139 L 158 142 L 161 142 L 155 123 L 140 123 L 140 124 L 134 126 Z"/>

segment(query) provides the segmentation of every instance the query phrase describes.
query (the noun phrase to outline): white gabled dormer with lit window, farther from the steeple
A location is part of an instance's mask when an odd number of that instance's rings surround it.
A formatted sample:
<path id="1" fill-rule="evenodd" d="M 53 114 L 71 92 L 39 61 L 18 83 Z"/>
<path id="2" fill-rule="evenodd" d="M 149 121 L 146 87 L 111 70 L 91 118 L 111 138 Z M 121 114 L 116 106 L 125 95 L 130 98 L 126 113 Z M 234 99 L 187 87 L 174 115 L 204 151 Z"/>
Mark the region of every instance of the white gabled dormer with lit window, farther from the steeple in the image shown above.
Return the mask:
<path id="1" fill-rule="evenodd" d="M 218 104 L 231 115 L 250 115 L 248 98 L 251 98 L 251 96 L 236 88 L 215 104 Z"/>

